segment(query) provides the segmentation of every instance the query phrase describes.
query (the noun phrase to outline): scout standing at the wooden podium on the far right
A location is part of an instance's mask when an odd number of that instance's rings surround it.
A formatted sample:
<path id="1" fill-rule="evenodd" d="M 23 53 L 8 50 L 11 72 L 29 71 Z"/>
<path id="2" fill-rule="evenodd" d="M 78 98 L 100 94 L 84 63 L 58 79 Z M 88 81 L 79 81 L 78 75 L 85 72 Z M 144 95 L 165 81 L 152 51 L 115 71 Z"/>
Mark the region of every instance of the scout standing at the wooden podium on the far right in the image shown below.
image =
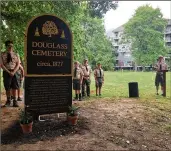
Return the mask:
<path id="1" fill-rule="evenodd" d="M 154 66 L 156 69 L 156 78 L 155 78 L 155 86 L 156 86 L 156 94 L 159 95 L 159 84 L 161 85 L 161 91 L 163 95 L 164 91 L 164 79 L 163 79 L 163 72 L 162 70 L 167 70 L 167 64 L 164 62 L 163 56 L 159 56 L 157 64 Z"/>

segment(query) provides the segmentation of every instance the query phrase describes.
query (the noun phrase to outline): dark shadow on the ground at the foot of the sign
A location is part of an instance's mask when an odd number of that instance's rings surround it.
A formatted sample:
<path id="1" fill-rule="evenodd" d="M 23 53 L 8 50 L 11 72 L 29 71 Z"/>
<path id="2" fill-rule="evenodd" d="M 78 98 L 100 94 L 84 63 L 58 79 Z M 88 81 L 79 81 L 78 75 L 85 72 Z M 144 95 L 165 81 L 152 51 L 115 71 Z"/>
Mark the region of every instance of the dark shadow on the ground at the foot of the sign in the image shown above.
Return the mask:
<path id="1" fill-rule="evenodd" d="M 32 133 L 23 134 L 20 124 L 15 122 L 8 129 L 2 131 L 1 144 L 35 143 L 66 135 L 84 135 L 85 131 L 89 130 L 88 123 L 84 117 L 79 118 L 76 126 L 68 125 L 65 119 L 34 121 Z"/>

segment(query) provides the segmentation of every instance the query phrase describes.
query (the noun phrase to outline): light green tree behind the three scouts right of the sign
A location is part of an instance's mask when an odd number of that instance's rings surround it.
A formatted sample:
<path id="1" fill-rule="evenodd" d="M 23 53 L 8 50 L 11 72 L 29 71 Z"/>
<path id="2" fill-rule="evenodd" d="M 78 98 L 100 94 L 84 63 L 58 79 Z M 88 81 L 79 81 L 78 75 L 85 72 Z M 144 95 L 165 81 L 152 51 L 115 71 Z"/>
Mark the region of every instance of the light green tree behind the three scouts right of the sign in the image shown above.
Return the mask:
<path id="1" fill-rule="evenodd" d="M 86 14 L 82 25 L 85 35 L 84 47 L 82 48 L 83 54 L 80 56 L 80 60 L 89 58 L 93 68 L 100 62 L 105 70 L 111 70 L 114 60 L 113 46 L 105 35 L 103 20 L 98 17 L 92 18 L 90 14 Z"/>

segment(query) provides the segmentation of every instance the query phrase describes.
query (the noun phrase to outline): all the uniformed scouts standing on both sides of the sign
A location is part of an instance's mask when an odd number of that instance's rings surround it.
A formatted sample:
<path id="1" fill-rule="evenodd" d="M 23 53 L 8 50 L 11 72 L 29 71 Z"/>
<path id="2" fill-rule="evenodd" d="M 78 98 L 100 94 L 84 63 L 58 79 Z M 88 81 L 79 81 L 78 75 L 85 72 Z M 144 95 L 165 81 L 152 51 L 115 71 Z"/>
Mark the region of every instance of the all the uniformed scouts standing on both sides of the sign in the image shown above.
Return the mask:
<path id="1" fill-rule="evenodd" d="M 13 101 L 13 107 L 18 107 L 17 101 L 22 101 L 20 97 L 20 88 L 24 78 L 24 69 L 20 60 L 20 56 L 14 52 L 13 42 L 8 40 L 5 42 L 6 51 L 0 54 L 0 65 L 3 69 L 3 83 L 6 90 L 7 101 L 5 107 L 11 105 Z M 163 72 L 167 69 L 167 64 L 164 62 L 164 57 L 159 56 L 158 62 L 155 65 L 156 69 L 156 94 L 158 95 L 159 84 L 161 85 L 161 91 L 163 95 Z M 74 100 L 81 101 L 85 97 L 90 97 L 90 84 L 91 84 L 92 69 L 88 64 L 88 60 L 85 59 L 83 64 L 78 61 L 74 62 L 73 68 L 73 89 L 75 90 Z M 104 84 L 104 71 L 101 64 L 98 63 L 94 70 L 96 96 L 101 96 L 102 85 Z M 18 94 L 18 98 L 17 98 Z"/>

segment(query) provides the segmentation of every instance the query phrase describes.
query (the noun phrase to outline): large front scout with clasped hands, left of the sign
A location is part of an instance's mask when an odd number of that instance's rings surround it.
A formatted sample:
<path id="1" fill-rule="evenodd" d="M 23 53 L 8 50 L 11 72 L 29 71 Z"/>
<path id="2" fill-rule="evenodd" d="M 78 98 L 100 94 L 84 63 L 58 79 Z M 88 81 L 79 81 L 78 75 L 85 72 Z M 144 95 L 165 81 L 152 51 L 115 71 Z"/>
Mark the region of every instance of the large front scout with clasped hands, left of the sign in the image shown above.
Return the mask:
<path id="1" fill-rule="evenodd" d="M 13 107 L 18 107 L 18 103 L 16 100 L 16 92 L 19 88 L 17 70 L 19 69 L 20 58 L 13 51 L 13 42 L 6 41 L 5 42 L 6 51 L 1 53 L 1 67 L 3 69 L 3 79 L 4 79 L 4 87 L 6 90 L 7 101 L 5 106 L 10 106 L 11 104 L 11 95 L 10 89 L 12 89 L 13 95 Z"/>

